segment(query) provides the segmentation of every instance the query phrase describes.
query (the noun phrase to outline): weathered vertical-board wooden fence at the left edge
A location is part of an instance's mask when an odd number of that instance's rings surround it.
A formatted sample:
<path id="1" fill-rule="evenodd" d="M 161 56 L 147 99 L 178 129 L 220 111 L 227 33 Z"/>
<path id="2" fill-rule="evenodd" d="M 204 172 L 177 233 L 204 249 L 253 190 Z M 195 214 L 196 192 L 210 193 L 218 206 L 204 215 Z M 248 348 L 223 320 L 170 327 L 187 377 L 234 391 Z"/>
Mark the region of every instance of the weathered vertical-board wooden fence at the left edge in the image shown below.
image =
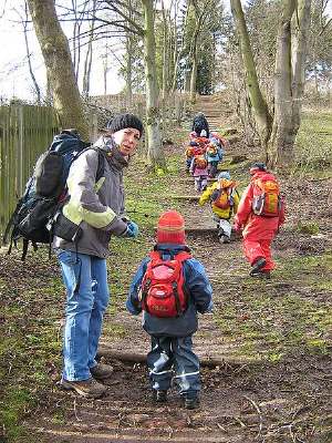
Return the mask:
<path id="1" fill-rule="evenodd" d="M 24 190 L 38 156 L 58 132 L 52 107 L 0 106 L 0 235 Z M 0 241 L 1 244 L 1 241 Z"/>

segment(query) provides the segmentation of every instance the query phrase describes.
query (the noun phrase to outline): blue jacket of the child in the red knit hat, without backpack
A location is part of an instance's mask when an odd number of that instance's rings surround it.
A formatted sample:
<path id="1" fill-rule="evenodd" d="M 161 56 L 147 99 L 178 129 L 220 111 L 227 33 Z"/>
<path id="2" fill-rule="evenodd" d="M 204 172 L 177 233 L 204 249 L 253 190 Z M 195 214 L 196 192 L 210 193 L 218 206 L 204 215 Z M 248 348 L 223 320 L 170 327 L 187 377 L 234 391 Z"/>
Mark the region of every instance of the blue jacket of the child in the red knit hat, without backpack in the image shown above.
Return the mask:
<path id="1" fill-rule="evenodd" d="M 163 258 L 168 260 L 173 259 L 181 250 L 187 250 L 187 247 L 184 245 L 159 244 L 155 246 L 155 249 L 162 250 Z M 151 258 L 146 257 L 141 262 L 131 285 L 126 308 L 134 316 L 137 316 L 142 311 L 138 291 L 149 260 Z M 206 313 L 212 310 L 212 288 L 204 266 L 195 258 L 185 260 L 183 266 L 185 289 L 189 295 L 188 308 L 183 316 L 173 318 L 159 318 L 144 311 L 142 320 L 143 329 L 151 336 L 190 336 L 198 328 L 197 312 Z"/>

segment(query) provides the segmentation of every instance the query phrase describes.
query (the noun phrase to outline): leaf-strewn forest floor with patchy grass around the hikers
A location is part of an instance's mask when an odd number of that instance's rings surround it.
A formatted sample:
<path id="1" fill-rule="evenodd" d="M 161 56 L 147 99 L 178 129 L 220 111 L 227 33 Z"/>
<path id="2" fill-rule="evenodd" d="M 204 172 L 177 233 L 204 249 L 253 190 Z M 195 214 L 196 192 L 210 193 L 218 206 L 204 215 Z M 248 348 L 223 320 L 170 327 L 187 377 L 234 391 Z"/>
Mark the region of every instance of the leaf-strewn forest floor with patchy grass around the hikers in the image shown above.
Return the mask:
<path id="1" fill-rule="evenodd" d="M 127 208 L 142 234 L 134 241 L 113 243 L 112 302 L 101 344 L 102 360 L 114 373 L 104 398 L 80 399 L 58 385 L 64 291 L 54 257 L 49 261 L 44 250 L 30 253 L 22 265 L 18 253 L 0 255 L 0 327 L 6 331 L 0 374 L 7 405 L 0 442 L 331 442 L 328 175 L 281 178 L 287 223 L 273 243 L 278 268 L 270 281 L 249 277 L 240 238 L 220 245 L 214 230 L 187 236 L 206 267 L 215 300 L 215 312 L 199 319 L 195 351 L 204 361 L 219 360 L 201 369 L 198 410 L 184 410 L 175 389 L 165 405 L 153 404 L 145 364 L 107 358 L 110 351 L 148 351 L 141 318 L 131 317 L 124 302 L 131 276 L 154 244 L 160 212 L 177 208 L 188 228 L 214 228 L 209 205 L 174 198 L 195 195 L 194 183 L 184 172 L 180 143 L 165 150 L 168 174 L 156 177 L 137 161 L 126 177 Z M 246 159 L 231 164 L 235 154 Z M 242 189 L 248 166 L 258 157 L 239 142 L 227 151 L 222 168 Z"/>

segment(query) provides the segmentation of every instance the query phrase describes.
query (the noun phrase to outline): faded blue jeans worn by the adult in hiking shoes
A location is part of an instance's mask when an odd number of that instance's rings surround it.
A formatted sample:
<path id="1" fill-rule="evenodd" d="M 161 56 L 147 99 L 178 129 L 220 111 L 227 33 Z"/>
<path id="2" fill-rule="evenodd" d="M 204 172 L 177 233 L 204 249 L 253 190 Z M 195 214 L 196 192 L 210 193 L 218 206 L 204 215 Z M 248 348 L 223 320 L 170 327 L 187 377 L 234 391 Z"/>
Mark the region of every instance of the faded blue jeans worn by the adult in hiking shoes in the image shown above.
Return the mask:
<path id="1" fill-rule="evenodd" d="M 63 378 L 87 380 L 110 300 L 106 260 L 70 250 L 60 250 L 58 259 L 66 287 Z"/>

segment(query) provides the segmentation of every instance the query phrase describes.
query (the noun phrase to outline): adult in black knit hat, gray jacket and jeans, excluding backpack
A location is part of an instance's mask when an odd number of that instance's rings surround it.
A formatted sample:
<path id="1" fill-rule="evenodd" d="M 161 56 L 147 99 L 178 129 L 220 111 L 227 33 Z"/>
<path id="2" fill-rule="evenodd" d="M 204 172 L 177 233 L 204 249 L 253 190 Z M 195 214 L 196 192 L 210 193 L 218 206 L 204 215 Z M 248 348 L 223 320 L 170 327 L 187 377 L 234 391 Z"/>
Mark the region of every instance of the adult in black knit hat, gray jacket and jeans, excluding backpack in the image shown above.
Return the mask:
<path id="1" fill-rule="evenodd" d="M 95 379 L 112 373 L 112 367 L 95 360 L 110 299 L 106 257 L 112 235 L 138 234 L 137 225 L 123 216 L 123 169 L 142 132 L 142 122 L 133 114 L 121 114 L 108 122 L 94 148 L 73 162 L 68 178 L 69 202 L 55 225 L 53 246 L 66 288 L 61 385 L 84 396 L 101 396 L 106 388 Z M 97 177 L 101 162 L 103 173 Z M 73 226 L 77 229 L 69 238 Z"/>

